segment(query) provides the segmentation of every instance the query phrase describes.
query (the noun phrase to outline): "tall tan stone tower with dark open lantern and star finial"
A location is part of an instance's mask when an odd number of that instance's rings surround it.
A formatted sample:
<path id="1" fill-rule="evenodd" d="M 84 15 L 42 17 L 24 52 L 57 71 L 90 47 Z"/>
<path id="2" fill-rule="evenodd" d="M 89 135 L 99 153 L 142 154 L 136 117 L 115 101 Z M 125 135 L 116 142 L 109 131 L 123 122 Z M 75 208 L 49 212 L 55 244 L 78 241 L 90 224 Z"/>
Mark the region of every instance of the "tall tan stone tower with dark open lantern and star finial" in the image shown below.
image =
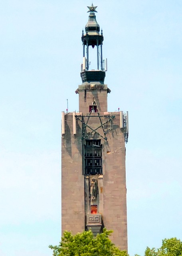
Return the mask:
<path id="1" fill-rule="evenodd" d="M 103 31 L 89 8 L 82 31 L 82 84 L 79 112 L 62 112 L 62 232 L 73 234 L 91 228 L 113 230 L 111 240 L 127 250 L 127 203 L 125 142 L 128 114 L 108 112 L 104 83 L 107 59 L 103 60 Z M 89 70 L 89 47 L 95 48 L 97 69 Z M 86 49 L 86 50 L 85 50 Z"/>

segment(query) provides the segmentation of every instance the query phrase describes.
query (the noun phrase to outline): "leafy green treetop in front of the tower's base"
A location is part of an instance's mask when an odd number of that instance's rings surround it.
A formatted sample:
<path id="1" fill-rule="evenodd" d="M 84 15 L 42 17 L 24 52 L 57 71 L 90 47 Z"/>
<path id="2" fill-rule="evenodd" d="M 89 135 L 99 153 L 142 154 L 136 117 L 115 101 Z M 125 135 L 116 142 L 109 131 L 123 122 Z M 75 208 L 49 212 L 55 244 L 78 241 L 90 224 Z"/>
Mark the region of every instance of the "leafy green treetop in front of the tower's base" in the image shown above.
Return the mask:
<path id="1" fill-rule="evenodd" d="M 65 231 L 58 246 L 50 245 L 53 256 L 129 256 L 121 251 L 109 239 L 113 231 L 103 229 L 102 234 L 93 236 L 91 230 L 77 233 Z"/>

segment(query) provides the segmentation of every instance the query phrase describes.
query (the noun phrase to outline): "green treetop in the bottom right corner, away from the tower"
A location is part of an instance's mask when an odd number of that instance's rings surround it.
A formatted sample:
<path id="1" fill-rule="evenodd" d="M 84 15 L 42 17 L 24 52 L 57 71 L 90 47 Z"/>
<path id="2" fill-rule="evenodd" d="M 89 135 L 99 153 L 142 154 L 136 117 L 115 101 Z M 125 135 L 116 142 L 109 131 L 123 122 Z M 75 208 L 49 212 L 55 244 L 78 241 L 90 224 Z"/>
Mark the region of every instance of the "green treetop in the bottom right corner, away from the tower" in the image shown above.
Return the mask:
<path id="1" fill-rule="evenodd" d="M 145 256 L 182 256 L 182 242 L 176 237 L 162 240 L 162 246 L 158 249 L 149 247 L 145 250 Z"/>

